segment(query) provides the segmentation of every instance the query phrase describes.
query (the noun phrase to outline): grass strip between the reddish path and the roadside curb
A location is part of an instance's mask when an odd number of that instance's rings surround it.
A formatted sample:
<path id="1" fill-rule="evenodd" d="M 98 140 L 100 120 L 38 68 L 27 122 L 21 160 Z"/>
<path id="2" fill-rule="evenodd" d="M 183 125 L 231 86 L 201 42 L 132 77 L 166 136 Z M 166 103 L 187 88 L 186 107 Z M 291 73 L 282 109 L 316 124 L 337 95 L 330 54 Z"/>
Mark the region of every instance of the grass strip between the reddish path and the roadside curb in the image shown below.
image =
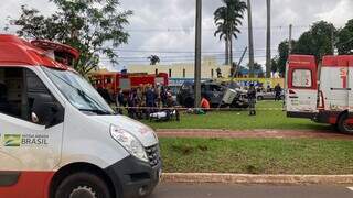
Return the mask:
<path id="1" fill-rule="evenodd" d="M 353 174 L 353 141 L 161 139 L 167 173 Z"/>

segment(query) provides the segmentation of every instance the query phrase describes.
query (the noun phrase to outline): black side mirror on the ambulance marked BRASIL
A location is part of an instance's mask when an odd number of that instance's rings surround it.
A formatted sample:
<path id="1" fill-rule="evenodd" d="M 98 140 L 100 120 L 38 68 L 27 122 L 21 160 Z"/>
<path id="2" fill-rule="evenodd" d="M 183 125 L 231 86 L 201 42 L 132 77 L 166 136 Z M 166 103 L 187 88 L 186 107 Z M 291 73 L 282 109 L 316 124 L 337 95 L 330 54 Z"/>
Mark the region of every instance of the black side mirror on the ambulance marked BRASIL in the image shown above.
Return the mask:
<path id="1" fill-rule="evenodd" d="M 52 127 L 60 112 L 57 102 L 49 94 L 35 94 L 33 100 L 31 121 L 46 128 Z"/>

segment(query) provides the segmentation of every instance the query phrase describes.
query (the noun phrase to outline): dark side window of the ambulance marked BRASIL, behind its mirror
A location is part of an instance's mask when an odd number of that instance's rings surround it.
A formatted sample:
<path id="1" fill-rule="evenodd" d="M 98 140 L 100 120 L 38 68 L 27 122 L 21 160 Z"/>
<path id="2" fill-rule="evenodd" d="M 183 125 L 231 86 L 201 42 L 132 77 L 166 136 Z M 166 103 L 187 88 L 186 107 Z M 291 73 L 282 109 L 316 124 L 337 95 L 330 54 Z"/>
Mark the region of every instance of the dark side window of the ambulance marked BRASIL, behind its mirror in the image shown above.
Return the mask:
<path id="1" fill-rule="evenodd" d="M 55 107 L 57 113 L 49 114 L 47 106 Z M 60 103 L 32 70 L 19 67 L 0 68 L 1 113 L 51 127 L 51 124 L 63 121 L 63 111 Z M 33 113 L 40 118 L 33 120 Z"/>

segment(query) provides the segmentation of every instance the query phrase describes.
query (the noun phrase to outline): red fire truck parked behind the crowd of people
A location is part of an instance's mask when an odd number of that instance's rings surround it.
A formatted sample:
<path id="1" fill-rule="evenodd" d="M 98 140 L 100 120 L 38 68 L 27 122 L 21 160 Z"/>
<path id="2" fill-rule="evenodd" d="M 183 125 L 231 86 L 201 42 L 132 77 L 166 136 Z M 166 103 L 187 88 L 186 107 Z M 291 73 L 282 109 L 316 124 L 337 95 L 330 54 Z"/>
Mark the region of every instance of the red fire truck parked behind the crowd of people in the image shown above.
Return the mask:
<path id="1" fill-rule="evenodd" d="M 117 72 L 99 70 L 90 75 L 90 81 L 96 88 L 105 88 L 111 95 L 118 90 L 130 90 L 145 85 L 168 86 L 168 74 L 150 75 L 146 73 L 122 74 Z"/>

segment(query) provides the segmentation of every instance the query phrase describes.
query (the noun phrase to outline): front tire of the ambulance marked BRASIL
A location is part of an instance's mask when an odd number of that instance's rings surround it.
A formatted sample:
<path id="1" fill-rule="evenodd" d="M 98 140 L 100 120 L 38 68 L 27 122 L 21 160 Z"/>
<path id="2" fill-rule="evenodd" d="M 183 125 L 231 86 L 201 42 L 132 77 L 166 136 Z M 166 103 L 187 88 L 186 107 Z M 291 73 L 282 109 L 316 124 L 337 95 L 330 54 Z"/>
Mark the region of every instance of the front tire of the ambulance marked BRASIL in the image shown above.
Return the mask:
<path id="1" fill-rule="evenodd" d="M 54 198 L 113 198 L 107 184 L 89 173 L 67 176 L 58 186 Z"/>

